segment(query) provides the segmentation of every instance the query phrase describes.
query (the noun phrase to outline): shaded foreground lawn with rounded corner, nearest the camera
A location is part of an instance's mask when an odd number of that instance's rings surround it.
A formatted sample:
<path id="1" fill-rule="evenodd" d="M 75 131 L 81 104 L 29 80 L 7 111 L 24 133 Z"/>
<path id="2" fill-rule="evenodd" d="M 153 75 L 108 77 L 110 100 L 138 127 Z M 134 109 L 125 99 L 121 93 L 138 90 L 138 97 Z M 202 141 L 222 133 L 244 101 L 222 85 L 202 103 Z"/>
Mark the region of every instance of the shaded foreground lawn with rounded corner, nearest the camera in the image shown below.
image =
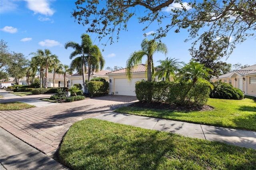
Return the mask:
<path id="1" fill-rule="evenodd" d="M 256 150 L 97 119 L 74 123 L 59 150 L 73 170 L 212 170 L 256 167 Z"/>

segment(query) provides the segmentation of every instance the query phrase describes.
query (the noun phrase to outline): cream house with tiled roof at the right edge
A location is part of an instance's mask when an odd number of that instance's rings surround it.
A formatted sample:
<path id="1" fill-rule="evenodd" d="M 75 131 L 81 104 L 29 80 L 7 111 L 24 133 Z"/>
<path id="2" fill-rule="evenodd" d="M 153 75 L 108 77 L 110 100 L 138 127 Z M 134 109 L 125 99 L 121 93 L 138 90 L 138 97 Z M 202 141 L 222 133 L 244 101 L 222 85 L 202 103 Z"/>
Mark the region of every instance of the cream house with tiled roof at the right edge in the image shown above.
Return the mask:
<path id="1" fill-rule="evenodd" d="M 256 97 L 256 64 L 211 79 L 212 82 L 219 80 L 232 84 L 233 87 L 242 90 L 245 95 Z"/>

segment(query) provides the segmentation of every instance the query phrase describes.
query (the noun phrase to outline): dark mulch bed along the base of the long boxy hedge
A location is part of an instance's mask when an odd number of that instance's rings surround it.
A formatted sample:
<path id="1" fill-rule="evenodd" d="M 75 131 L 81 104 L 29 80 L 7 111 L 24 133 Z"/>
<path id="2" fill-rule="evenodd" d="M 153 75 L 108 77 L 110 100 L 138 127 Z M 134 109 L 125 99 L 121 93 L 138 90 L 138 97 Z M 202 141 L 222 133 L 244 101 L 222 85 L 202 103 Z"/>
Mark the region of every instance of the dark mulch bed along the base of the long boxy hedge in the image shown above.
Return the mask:
<path id="1" fill-rule="evenodd" d="M 145 109 L 165 109 L 165 110 L 175 110 L 175 111 L 211 111 L 214 109 L 213 107 L 210 107 L 208 105 L 204 105 L 202 107 L 176 106 L 168 103 L 157 103 L 157 102 L 146 103 L 146 102 L 140 102 L 140 101 L 129 106 L 140 107 Z"/>

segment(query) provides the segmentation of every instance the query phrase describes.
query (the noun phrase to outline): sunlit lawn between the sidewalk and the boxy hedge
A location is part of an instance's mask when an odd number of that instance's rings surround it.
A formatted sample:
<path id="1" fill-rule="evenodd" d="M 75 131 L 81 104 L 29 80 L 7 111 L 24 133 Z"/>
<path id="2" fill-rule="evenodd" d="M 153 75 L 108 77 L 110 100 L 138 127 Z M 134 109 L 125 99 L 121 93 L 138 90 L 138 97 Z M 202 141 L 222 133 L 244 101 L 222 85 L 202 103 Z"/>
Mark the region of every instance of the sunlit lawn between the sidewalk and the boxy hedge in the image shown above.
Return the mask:
<path id="1" fill-rule="evenodd" d="M 209 99 L 207 105 L 214 107 L 214 110 L 182 112 L 128 106 L 115 112 L 256 131 L 256 102 L 253 99 Z"/>

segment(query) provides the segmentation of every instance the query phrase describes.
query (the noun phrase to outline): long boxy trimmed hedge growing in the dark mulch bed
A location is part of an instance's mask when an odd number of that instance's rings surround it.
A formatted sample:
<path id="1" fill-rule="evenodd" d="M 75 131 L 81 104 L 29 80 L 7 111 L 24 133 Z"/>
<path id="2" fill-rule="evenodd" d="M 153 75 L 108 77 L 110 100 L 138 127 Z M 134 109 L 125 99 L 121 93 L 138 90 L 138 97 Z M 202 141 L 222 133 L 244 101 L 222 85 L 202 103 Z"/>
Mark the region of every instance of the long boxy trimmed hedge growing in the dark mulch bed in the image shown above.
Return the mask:
<path id="1" fill-rule="evenodd" d="M 203 106 L 208 101 L 210 87 L 206 83 L 196 83 L 192 87 L 190 82 L 142 80 L 136 82 L 135 93 L 139 101 Z"/>

